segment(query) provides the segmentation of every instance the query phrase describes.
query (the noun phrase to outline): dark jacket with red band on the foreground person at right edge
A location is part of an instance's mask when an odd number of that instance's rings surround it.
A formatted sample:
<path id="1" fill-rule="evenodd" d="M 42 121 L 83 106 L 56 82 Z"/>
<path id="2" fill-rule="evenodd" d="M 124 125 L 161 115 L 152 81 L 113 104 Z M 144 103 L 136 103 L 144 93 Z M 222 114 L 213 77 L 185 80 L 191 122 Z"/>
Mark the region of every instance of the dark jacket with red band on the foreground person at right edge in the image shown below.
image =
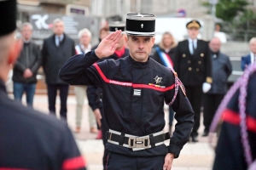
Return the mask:
<path id="1" fill-rule="evenodd" d="M 247 88 L 247 133 L 253 161 L 256 159 L 256 73 L 250 77 Z M 221 127 L 213 170 L 244 170 L 247 169 L 244 150 L 241 144 L 240 116 L 238 114 L 239 91 L 230 100 L 224 111 L 224 122 Z"/>

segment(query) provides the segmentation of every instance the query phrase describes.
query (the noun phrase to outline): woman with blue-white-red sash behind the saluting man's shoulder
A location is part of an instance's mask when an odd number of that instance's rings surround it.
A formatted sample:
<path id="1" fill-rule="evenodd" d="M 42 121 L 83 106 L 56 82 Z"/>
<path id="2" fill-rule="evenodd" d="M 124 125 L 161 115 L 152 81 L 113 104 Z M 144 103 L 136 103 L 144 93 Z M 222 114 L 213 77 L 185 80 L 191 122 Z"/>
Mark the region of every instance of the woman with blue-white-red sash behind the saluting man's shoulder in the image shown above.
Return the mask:
<path id="1" fill-rule="evenodd" d="M 161 65 L 165 65 L 166 67 L 173 69 L 174 53 L 175 53 L 176 46 L 177 44 L 172 34 L 166 31 L 162 36 L 162 40 L 159 46 L 155 48 L 155 52 L 151 56 L 151 58 L 159 62 Z M 172 135 L 173 116 L 174 116 L 174 111 L 172 110 L 172 106 L 169 106 L 170 135 Z"/>

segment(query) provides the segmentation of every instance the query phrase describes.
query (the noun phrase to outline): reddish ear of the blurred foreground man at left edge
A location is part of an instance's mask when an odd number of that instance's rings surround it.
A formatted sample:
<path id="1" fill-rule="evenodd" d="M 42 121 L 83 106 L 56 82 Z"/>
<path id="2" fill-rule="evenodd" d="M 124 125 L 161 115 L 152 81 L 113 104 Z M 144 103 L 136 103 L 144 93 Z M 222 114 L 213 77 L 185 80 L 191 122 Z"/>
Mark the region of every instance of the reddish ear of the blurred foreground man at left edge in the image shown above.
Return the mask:
<path id="1" fill-rule="evenodd" d="M 8 64 L 9 65 L 14 65 L 16 59 L 20 55 L 20 51 L 22 49 L 23 43 L 21 40 L 15 40 L 13 42 L 13 45 L 10 46 L 9 48 L 9 56 L 8 56 Z"/>

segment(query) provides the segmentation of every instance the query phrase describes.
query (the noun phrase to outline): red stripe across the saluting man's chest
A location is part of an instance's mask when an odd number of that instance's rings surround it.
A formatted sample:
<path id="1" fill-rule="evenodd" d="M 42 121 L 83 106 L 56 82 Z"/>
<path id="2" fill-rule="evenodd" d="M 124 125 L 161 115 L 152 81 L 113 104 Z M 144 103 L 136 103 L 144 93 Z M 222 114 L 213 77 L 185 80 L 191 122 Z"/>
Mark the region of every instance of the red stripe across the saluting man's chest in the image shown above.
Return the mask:
<path id="1" fill-rule="evenodd" d="M 174 84 L 172 84 L 172 86 L 169 86 L 167 88 L 157 88 L 157 87 L 150 86 L 150 85 L 147 85 L 147 84 L 133 84 L 132 82 L 119 82 L 119 81 L 115 81 L 115 80 L 109 80 L 107 77 L 105 77 L 105 75 L 102 72 L 99 65 L 97 65 L 96 63 L 93 64 L 93 65 L 96 67 L 96 70 L 99 72 L 103 81 L 107 82 L 107 83 L 110 83 L 110 84 L 115 84 L 115 85 L 119 85 L 119 86 L 127 86 L 127 87 L 132 87 L 132 88 L 150 88 L 150 89 L 154 89 L 154 90 L 160 91 L 160 92 L 166 92 L 168 90 L 171 90 L 175 86 Z"/>

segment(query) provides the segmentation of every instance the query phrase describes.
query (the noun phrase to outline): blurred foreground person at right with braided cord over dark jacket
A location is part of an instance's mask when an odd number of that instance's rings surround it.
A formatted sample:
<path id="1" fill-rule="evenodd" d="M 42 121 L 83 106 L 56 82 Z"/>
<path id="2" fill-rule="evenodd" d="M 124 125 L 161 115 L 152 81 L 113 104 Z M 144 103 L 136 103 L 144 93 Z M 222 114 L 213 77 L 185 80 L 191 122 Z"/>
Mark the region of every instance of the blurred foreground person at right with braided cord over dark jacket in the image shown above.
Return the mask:
<path id="1" fill-rule="evenodd" d="M 222 118 L 213 170 L 256 169 L 256 64 L 248 65 L 218 107 L 210 128 Z"/>

